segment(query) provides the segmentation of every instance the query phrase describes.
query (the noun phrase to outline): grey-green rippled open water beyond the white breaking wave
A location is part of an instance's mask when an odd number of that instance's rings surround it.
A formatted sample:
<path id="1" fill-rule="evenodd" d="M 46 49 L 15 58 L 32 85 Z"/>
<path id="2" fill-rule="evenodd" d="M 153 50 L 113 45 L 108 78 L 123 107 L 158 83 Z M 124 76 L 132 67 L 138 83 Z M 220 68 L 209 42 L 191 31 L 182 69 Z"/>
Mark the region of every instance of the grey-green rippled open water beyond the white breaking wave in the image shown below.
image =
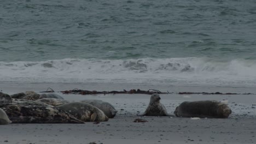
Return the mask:
<path id="1" fill-rule="evenodd" d="M 0 1 L 0 61 L 256 59 L 256 1 Z"/>

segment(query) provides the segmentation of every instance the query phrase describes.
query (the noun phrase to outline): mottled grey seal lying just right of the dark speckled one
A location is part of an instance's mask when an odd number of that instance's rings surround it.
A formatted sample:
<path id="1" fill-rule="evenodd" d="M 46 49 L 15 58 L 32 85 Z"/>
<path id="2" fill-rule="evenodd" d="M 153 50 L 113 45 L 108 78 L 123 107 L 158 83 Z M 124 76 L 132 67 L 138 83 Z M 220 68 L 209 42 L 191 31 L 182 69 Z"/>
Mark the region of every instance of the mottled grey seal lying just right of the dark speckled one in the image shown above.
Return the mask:
<path id="1" fill-rule="evenodd" d="M 72 102 L 56 107 L 71 113 L 71 115 L 73 115 L 75 118 L 84 122 L 108 121 L 108 117 L 104 114 L 103 111 L 87 103 Z"/>

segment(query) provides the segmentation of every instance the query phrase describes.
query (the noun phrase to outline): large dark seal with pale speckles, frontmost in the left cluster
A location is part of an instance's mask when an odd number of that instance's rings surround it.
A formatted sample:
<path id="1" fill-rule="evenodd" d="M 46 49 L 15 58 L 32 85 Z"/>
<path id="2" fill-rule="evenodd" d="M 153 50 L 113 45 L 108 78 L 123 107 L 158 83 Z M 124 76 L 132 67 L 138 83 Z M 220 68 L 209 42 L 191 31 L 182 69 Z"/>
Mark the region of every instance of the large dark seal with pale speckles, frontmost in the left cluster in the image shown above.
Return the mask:
<path id="1" fill-rule="evenodd" d="M 1 105 L 12 123 L 84 123 L 70 113 L 54 106 L 37 103 Z"/>

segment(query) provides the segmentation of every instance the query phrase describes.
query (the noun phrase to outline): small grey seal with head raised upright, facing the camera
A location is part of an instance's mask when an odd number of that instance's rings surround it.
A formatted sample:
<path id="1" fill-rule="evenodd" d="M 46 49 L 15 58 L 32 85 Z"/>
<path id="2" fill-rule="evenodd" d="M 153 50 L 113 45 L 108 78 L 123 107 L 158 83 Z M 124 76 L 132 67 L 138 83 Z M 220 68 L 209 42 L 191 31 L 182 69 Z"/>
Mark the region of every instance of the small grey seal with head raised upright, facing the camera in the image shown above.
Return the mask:
<path id="1" fill-rule="evenodd" d="M 165 106 L 160 103 L 160 99 L 159 94 L 152 94 L 149 105 L 142 116 L 170 116 L 168 115 Z"/>

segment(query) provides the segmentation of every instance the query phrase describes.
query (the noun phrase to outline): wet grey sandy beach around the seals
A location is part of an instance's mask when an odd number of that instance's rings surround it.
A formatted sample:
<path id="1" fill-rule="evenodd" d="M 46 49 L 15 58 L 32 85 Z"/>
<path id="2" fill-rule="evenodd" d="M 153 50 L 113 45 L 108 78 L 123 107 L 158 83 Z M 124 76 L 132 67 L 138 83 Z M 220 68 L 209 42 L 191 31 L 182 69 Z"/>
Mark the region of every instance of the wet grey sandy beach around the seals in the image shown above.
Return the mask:
<path id="1" fill-rule="evenodd" d="M 100 99 L 118 110 L 108 122 L 94 124 L 8 124 L 1 125 L 0 143 L 254 143 L 256 141 L 255 95 L 179 95 L 177 92 L 232 92 L 255 93 L 254 88 L 242 87 L 185 87 L 130 84 L 63 84 L 63 83 L 1 83 L 0 91 L 14 94 L 25 91 L 45 91 L 48 87 L 69 101 Z M 182 101 L 225 100 L 232 113 L 229 118 L 141 117 L 148 122 L 134 123 L 149 103 L 146 94 L 61 94 L 73 88 L 96 91 L 123 91 L 123 89 L 158 89 L 161 103 L 173 114 Z"/>

